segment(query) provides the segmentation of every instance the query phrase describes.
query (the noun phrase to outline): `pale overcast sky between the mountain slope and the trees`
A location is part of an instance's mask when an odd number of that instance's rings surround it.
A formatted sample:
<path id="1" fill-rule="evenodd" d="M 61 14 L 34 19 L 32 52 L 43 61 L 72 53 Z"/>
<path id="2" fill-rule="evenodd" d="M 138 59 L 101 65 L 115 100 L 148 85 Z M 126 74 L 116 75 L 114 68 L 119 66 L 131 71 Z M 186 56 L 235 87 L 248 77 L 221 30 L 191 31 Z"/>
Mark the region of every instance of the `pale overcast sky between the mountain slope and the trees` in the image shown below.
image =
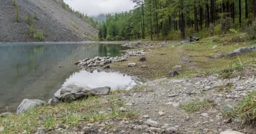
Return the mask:
<path id="1" fill-rule="evenodd" d="M 90 16 L 128 11 L 134 6 L 132 0 L 64 0 L 64 2 Z"/>

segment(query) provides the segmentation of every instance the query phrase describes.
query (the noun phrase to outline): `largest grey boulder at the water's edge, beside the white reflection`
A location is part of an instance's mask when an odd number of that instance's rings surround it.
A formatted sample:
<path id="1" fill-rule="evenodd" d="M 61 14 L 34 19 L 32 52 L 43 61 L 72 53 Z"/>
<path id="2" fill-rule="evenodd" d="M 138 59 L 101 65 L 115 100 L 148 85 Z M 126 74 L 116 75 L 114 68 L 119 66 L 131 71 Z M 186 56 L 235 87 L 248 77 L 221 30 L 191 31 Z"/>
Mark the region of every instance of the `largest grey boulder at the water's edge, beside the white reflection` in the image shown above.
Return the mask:
<path id="1" fill-rule="evenodd" d="M 56 93 L 54 93 L 54 97 L 58 98 L 60 101 L 74 101 L 87 97 L 90 90 L 90 87 L 76 83 L 62 87 Z"/>

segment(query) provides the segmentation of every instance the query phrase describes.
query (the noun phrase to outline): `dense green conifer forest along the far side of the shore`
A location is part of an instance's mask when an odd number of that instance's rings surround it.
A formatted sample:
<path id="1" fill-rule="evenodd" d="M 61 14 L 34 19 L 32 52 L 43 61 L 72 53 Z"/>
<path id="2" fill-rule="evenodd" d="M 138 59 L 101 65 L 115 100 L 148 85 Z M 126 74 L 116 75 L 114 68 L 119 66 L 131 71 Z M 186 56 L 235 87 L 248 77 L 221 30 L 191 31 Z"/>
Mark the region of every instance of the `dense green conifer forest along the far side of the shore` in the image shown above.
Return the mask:
<path id="1" fill-rule="evenodd" d="M 133 0 L 133 10 L 107 15 L 100 40 L 185 39 L 248 32 L 254 38 L 256 0 Z"/>

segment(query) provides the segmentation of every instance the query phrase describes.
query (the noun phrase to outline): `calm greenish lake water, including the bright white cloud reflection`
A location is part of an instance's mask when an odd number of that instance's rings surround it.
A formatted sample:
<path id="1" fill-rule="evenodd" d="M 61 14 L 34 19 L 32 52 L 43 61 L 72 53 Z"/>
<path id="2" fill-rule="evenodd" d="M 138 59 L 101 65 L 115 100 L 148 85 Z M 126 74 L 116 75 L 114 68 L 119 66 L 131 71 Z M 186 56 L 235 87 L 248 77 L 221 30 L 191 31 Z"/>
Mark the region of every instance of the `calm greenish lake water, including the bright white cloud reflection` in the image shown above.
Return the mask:
<path id="1" fill-rule="evenodd" d="M 133 84 L 130 76 L 90 73 L 74 65 L 85 58 L 120 56 L 124 49 L 98 43 L 0 44 L 0 113 L 14 112 L 24 98 L 48 101 L 62 85 L 72 82 L 127 88 Z"/>

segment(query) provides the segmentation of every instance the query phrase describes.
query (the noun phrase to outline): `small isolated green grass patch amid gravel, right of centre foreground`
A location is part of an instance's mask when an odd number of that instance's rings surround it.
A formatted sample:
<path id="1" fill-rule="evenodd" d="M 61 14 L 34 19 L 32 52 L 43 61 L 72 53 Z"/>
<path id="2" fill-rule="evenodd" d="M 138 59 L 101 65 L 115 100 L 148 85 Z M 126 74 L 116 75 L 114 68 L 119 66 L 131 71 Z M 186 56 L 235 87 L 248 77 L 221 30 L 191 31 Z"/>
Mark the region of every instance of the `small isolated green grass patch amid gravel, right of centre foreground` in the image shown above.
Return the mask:
<path id="1" fill-rule="evenodd" d="M 182 108 L 184 111 L 188 113 L 194 113 L 197 111 L 200 111 L 203 108 L 206 108 L 209 106 L 209 103 L 207 101 L 189 101 L 186 103 L 181 104 L 180 108 Z"/>

